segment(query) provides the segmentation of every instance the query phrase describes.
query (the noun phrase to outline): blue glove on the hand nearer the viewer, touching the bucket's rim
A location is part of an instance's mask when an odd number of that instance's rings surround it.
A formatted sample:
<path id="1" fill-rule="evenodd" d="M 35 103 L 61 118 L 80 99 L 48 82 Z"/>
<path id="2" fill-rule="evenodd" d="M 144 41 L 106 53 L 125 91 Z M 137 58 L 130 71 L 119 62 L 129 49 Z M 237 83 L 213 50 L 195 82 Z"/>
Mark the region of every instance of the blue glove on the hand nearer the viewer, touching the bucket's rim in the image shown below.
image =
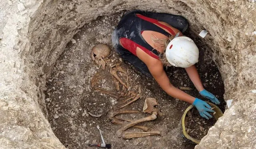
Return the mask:
<path id="1" fill-rule="evenodd" d="M 206 118 L 207 120 L 209 120 L 209 118 L 212 118 L 212 115 L 208 112 L 215 112 L 214 110 L 211 110 L 212 107 L 209 104 L 198 98 L 196 98 L 196 100 L 193 102 L 193 105 L 197 108 L 200 116 Z"/>

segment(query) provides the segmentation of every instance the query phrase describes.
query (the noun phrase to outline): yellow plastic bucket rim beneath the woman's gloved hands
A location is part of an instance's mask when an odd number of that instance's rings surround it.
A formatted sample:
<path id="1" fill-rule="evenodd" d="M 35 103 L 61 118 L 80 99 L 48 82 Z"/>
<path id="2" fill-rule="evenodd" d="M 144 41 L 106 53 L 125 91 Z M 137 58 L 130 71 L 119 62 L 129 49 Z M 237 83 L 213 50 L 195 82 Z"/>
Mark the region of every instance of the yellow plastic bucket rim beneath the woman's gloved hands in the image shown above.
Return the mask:
<path id="1" fill-rule="evenodd" d="M 212 104 L 211 102 L 207 102 L 207 103 L 208 103 L 211 107 L 214 107 L 213 110 L 216 112 L 216 114 L 214 114 L 213 117 L 215 118 L 215 120 L 218 120 L 218 118 L 220 118 L 221 116 L 223 116 L 223 113 L 222 113 L 222 111 L 220 110 L 220 108 L 219 108 L 218 106 L 216 106 L 215 104 Z M 182 115 L 182 119 L 181 119 L 181 123 L 182 123 L 182 133 L 183 133 L 183 135 L 184 135 L 187 139 L 193 141 L 193 142 L 196 143 L 196 144 L 199 144 L 201 140 L 195 139 L 195 138 L 191 137 L 190 135 L 188 135 L 188 133 L 187 133 L 187 131 L 186 131 L 186 127 L 185 127 L 185 117 L 186 117 L 186 115 L 187 115 L 187 112 L 188 112 L 189 110 L 191 110 L 193 107 L 194 107 L 193 105 L 188 106 L 188 108 L 186 108 L 184 114 Z"/>

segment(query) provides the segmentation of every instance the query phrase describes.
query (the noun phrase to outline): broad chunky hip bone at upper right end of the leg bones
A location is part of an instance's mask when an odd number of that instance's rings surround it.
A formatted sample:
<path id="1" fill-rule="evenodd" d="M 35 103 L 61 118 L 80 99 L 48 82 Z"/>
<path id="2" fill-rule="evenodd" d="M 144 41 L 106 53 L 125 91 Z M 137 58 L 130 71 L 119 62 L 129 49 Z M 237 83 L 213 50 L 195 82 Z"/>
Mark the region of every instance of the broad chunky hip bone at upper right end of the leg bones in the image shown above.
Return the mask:
<path id="1" fill-rule="evenodd" d="M 158 112 L 161 116 L 162 112 L 160 112 L 159 104 L 156 101 L 156 98 L 146 98 L 143 106 L 143 112 L 152 114 L 153 111 Z"/>

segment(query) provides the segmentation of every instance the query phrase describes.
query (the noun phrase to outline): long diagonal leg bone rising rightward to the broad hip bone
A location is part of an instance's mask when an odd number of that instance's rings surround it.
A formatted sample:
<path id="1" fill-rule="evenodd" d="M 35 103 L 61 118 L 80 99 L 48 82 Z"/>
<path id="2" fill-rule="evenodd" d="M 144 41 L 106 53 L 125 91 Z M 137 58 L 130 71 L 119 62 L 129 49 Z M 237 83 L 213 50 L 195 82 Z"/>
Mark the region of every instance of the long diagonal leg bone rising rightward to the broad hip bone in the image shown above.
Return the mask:
<path id="1" fill-rule="evenodd" d="M 141 118 L 141 119 L 139 119 L 139 120 L 135 120 L 135 121 L 133 121 L 133 122 L 131 122 L 131 123 L 129 123 L 129 124 L 124 125 L 122 128 L 118 129 L 118 131 L 116 131 L 116 135 L 117 135 L 118 137 L 121 137 L 121 136 L 122 136 L 122 133 L 123 133 L 126 129 L 132 127 L 133 125 L 136 125 L 136 124 L 139 124 L 139 123 L 142 123 L 142 122 L 146 122 L 146 121 L 155 120 L 155 119 L 157 118 L 157 117 L 156 117 L 157 114 L 158 114 L 158 113 L 157 113 L 156 111 L 153 111 L 152 114 L 151 114 L 150 116 L 146 117 L 146 118 Z"/>

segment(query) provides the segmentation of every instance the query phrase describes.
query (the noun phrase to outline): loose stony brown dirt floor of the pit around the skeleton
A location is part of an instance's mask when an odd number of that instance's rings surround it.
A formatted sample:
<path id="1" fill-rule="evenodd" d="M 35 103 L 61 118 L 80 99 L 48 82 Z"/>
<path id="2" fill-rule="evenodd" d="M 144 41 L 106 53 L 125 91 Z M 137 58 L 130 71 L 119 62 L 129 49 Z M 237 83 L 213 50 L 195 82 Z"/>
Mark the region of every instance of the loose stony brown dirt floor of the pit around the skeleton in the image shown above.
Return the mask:
<path id="1" fill-rule="evenodd" d="M 111 35 L 118 24 L 122 14 L 100 16 L 89 24 L 84 25 L 68 43 L 65 51 L 58 58 L 51 76 L 48 78 L 45 90 L 48 120 L 55 135 L 69 149 L 95 149 L 88 147 L 88 143 L 101 143 L 100 133 L 96 128 L 99 125 L 106 143 L 111 143 L 113 149 L 192 149 L 195 144 L 189 143 L 182 137 L 180 131 L 180 119 L 188 103 L 168 96 L 152 78 L 136 71 L 133 66 L 124 62 L 112 47 Z M 210 47 L 204 44 L 204 40 L 195 38 L 196 35 L 188 29 L 186 35 L 194 39 L 200 49 L 199 63 L 196 64 L 200 78 L 205 88 L 216 95 L 221 101 L 220 108 L 224 110 L 223 100 L 224 84 L 220 73 L 212 60 Z M 100 69 L 90 58 L 90 51 L 94 45 L 105 43 L 111 49 L 111 56 L 106 69 Z M 141 89 L 141 98 L 130 104 L 126 109 L 140 110 L 139 114 L 121 115 L 122 118 L 135 120 L 148 116 L 142 112 L 144 100 L 147 97 L 158 99 L 162 110 L 162 117 L 145 125 L 152 131 L 161 131 L 162 136 L 150 136 L 136 139 L 122 139 L 116 136 L 120 125 L 114 125 L 108 119 L 108 112 L 118 104 L 119 99 L 97 92 L 90 82 L 96 73 L 100 73 L 98 87 L 116 92 L 110 74 L 110 66 L 120 63 L 131 78 L 131 90 Z M 169 67 L 167 74 L 172 84 L 176 87 L 189 87 L 192 90 L 184 90 L 188 94 L 206 100 L 198 94 L 198 91 L 182 68 Z M 209 101 L 209 100 L 206 100 Z M 88 108 L 94 114 L 102 114 L 93 117 L 88 114 Z M 102 112 L 100 112 L 102 110 Z M 128 131 L 139 131 L 131 128 Z"/>

